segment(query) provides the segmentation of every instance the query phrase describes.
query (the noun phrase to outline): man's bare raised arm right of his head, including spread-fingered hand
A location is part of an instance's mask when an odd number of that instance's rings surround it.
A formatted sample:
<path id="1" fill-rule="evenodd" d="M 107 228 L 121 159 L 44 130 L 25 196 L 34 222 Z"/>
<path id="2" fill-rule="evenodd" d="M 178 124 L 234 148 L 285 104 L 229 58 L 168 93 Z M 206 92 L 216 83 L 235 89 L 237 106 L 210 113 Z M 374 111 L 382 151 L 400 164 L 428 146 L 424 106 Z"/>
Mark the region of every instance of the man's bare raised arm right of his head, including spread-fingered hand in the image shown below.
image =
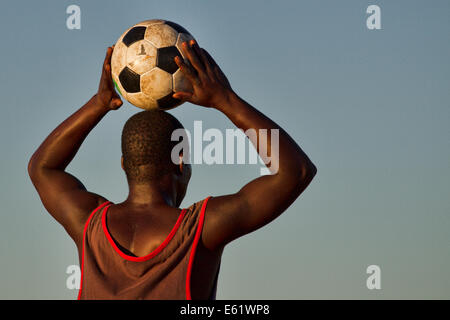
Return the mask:
<path id="1" fill-rule="evenodd" d="M 194 91 L 176 93 L 174 97 L 221 111 L 246 133 L 263 159 L 266 155 L 271 159 L 267 164 L 271 175 L 249 182 L 234 194 L 209 200 L 202 241 L 211 250 L 222 249 L 230 241 L 266 225 L 283 213 L 311 182 L 316 167 L 280 126 L 233 92 L 206 50 L 193 41 L 185 43 L 183 50 L 192 67 L 179 58 L 176 63 Z M 248 134 L 251 133 L 248 129 L 254 129 L 257 134 Z M 263 129 L 267 130 L 267 143 L 258 141 Z M 272 141 L 271 130 L 278 130 L 278 141 Z M 272 149 L 276 144 L 278 157 Z"/>

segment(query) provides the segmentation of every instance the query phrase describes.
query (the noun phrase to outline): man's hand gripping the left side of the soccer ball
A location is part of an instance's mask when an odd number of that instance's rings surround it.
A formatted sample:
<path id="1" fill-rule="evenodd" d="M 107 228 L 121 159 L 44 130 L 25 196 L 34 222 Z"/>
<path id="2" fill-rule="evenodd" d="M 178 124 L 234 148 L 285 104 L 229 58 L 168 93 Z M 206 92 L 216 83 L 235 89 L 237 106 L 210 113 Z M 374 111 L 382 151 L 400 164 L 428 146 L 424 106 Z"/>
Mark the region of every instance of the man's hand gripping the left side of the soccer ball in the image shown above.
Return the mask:
<path id="1" fill-rule="evenodd" d="M 113 50 L 114 46 L 109 47 L 106 51 L 105 61 L 103 62 L 102 76 L 100 78 L 100 84 L 98 86 L 98 92 L 95 98 L 99 105 L 116 110 L 122 106 L 123 102 L 114 89 L 111 78 L 111 56 Z"/>

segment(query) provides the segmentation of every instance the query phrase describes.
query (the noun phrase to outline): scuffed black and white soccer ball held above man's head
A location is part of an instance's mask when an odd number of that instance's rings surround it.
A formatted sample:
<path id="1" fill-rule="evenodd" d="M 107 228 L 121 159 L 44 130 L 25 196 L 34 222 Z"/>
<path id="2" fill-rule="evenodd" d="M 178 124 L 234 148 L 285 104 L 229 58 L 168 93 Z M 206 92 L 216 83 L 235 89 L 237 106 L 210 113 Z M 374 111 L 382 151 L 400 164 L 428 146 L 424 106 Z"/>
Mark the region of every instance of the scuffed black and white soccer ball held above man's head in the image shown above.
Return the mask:
<path id="1" fill-rule="evenodd" d="M 180 25 L 166 20 L 142 21 L 117 40 L 111 73 L 117 91 L 138 108 L 168 110 L 182 104 L 174 92 L 192 92 L 189 80 L 174 61 L 184 41 L 193 39 Z"/>

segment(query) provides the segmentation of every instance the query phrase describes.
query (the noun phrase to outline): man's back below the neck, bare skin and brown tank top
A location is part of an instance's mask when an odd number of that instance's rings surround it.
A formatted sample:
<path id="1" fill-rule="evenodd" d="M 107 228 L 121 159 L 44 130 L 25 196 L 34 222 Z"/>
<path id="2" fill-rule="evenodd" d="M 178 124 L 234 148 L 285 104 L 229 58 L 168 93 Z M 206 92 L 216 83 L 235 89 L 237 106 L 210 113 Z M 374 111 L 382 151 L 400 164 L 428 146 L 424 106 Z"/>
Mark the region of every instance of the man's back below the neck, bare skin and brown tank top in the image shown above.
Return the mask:
<path id="1" fill-rule="evenodd" d="M 222 251 L 202 244 L 208 199 L 183 210 L 161 206 L 166 216 L 99 206 L 85 226 L 79 298 L 214 299 Z"/>

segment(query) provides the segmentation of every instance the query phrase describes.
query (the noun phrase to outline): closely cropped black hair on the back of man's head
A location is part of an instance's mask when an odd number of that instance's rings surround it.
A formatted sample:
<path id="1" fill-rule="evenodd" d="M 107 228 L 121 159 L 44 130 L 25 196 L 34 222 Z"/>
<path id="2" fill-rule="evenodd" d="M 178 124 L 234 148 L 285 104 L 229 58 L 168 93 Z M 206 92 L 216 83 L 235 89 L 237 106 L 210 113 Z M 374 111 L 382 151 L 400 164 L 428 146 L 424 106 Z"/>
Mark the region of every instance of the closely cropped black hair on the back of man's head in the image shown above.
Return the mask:
<path id="1" fill-rule="evenodd" d="M 171 160 L 172 132 L 184 129 L 170 113 L 146 110 L 131 116 L 122 130 L 123 166 L 128 182 L 144 182 L 169 173 L 174 164 Z M 173 169 L 172 169 L 173 170 Z"/>

